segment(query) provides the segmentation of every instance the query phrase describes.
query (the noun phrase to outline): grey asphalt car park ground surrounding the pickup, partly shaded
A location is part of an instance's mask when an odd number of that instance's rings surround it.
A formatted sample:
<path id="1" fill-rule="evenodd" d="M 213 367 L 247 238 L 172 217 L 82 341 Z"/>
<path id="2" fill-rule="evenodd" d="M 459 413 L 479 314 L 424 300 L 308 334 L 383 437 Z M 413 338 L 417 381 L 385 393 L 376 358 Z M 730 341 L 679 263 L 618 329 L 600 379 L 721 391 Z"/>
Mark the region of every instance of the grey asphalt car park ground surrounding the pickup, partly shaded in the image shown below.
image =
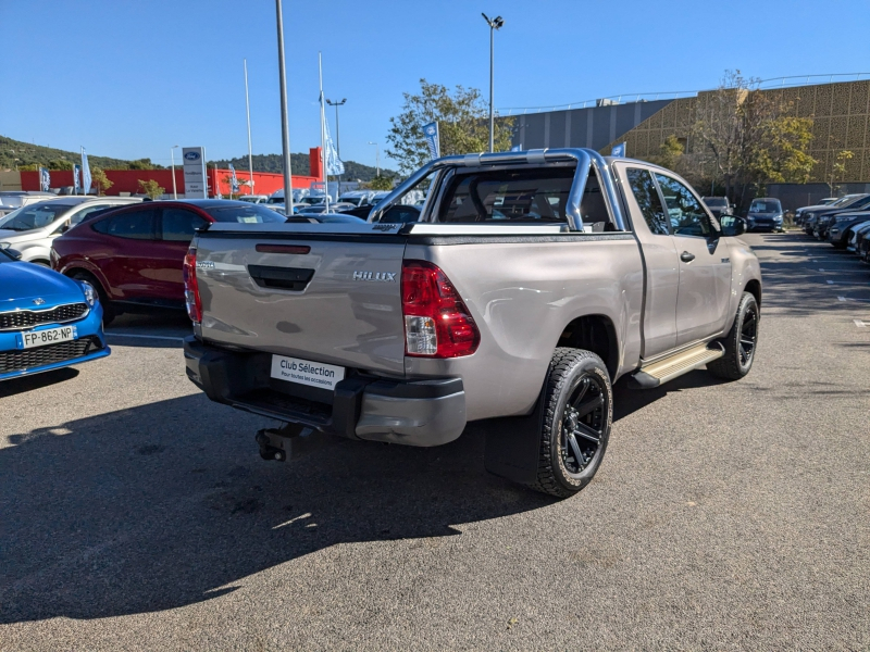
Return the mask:
<path id="1" fill-rule="evenodd" d="M 746 239 L 751 374 L 618 386 L 566 501 L 474 428 L 263 462 L 185 319 L 122 317 L 110 358 L 0 385 L 0 650 L 868 649 L 870 267 Z"/>

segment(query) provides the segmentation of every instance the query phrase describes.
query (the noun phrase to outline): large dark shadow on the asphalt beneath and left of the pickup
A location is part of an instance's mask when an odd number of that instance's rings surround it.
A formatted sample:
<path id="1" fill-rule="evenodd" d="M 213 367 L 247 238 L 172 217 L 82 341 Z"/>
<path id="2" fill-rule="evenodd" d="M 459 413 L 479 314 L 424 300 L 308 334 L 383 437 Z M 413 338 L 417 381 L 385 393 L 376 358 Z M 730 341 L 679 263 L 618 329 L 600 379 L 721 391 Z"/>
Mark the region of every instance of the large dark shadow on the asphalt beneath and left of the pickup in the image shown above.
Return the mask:
<path id="1" fill-rule="evenodd" d="M 282 464 L 258 455 L 264 425 L 191 394 L 12 435 L 0 623 L 184 606 L 324 549 L 340 564 L 370 554 L 345 543 L 437 546 L 462 524 L 554 502 L 486 474 L 474 427 L 433 449 L 337 440 Z"/>

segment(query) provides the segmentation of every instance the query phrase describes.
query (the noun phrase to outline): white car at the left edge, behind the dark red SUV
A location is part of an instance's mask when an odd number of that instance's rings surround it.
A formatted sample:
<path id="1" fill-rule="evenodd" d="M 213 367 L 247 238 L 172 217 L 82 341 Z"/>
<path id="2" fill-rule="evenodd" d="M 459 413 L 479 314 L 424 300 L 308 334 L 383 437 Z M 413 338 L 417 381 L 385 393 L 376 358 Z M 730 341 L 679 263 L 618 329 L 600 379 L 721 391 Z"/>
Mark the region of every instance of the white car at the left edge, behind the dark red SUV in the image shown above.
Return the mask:
<path id="1" fill-rule="evenodd" d="M 139 203 L 129 197 L 63 197 L 23 206 L 0 218 L 0 247 L 21 253 L 22 260 L 51 266 L 51 243 L 89 214 L 107 208 Z"/>

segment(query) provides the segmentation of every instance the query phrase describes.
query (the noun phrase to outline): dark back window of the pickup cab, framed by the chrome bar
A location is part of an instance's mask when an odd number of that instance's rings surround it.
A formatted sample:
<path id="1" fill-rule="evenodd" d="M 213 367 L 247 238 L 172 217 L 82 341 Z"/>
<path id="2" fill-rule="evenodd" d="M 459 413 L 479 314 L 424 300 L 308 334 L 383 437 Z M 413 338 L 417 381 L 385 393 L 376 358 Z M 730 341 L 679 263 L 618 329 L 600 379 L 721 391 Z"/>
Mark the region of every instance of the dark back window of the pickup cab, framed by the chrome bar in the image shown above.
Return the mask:
<path id="1" fill-rule="evenodd" d="M 573 167 L 497 170 L 456 175 L 440 202 L 439 222 L 567 222 Z"/>

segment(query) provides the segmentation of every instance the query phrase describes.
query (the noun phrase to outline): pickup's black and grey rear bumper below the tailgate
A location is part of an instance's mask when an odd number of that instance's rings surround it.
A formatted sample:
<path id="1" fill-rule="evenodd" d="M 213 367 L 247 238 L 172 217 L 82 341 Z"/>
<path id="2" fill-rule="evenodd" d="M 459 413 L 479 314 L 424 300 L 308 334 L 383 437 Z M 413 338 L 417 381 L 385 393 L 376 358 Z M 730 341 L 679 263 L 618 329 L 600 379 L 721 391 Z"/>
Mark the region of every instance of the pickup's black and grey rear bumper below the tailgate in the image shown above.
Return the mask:
<path id="1" fill-rule="evenodd" d="M 184 356 L 187 377 L 212 401 L 349 439 L 431 447 L 465 428 L 461 378 L 399 381 L 351 374 L 324 396 L 274 381 L 270 353 L 229 351 L 189 336 Z"/>

